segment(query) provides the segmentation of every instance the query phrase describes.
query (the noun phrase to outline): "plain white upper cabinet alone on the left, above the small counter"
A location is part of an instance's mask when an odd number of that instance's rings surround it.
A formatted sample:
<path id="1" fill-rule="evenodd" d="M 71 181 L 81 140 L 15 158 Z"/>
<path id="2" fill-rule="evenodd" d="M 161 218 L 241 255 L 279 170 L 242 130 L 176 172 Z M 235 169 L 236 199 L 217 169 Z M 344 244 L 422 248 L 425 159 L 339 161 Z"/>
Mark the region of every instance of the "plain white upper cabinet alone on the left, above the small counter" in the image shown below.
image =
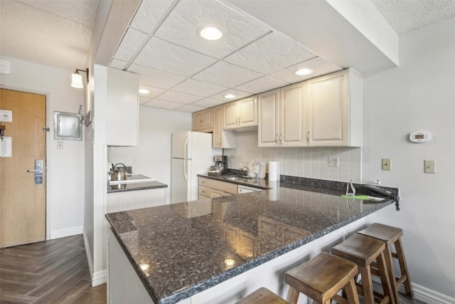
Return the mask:
<path id="1" fill-rule="evenodd" d="M 107 68 L 107 145 L 136 146 L 138 130 L 138 75 Z"/>

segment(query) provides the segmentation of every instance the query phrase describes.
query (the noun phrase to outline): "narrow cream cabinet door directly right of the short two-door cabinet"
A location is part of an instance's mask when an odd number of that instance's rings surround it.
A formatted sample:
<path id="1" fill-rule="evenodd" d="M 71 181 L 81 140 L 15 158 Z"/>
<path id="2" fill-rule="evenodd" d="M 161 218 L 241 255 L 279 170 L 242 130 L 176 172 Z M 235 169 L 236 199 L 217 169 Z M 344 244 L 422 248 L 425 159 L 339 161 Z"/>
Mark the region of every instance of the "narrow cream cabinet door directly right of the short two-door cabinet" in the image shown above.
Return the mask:
<path id="1" fill-rule="evenodd" d="M 258 147 L 279 147 L 279 89 L 259 94 Z"/>

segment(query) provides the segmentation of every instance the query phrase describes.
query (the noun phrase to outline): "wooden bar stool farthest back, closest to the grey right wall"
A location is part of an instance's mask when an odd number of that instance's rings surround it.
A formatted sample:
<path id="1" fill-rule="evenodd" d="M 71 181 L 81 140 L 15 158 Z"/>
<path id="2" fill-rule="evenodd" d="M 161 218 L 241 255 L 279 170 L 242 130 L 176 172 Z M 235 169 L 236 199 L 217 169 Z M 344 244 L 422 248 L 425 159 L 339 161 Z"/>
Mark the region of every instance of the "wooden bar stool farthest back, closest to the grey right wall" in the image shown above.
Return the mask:
<path id="1" fill-rule="evenodd" d="M 392 286 L 395 303 L 398 303 L 398 288 L 402 284 L 405 285 L 407 298 L 414 298 L 410 273 L 407 271 L 405 252 L 403 251 L 401 242 L 401 237 L 403 235 L 402 229 L 375 223 L 368 226 L 368 228 L 358 231 L 358 234 L 370 236 L 385 242 L 385 261 L 389 270 L 390 285 Z M 395 245 L 396 252 L 392 252 L 392 245 Z M 397 258 L 398 263 L 400 264 L 401 276 L 399 278 L 395 276 L 392 258 Z"/>

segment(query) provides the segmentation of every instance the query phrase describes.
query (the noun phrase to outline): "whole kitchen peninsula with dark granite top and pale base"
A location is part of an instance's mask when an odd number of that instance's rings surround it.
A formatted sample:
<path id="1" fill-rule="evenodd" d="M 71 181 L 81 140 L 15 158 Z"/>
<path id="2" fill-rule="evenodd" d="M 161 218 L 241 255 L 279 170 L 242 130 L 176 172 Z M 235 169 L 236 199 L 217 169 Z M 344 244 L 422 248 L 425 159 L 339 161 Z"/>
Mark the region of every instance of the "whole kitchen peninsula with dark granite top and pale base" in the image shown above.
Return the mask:
<path id="1" fill-rule="evenodd" d="M 368 214 L 393 208 L 391 199 L 340 194 L 281 182 L 262 192 L 107 214 L 109 300 L 234 303 L 260 286 L 284 296 L 288 269 L 363 228 Z"/>

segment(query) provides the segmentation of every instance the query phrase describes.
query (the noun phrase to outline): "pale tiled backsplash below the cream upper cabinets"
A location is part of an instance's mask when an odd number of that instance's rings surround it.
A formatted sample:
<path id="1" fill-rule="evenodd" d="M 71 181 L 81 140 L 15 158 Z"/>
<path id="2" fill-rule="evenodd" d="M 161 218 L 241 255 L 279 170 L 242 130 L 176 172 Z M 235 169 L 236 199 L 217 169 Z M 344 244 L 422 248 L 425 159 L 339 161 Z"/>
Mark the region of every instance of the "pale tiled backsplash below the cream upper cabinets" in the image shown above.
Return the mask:
<path id="1" fill-rule="evenodd" d="M 340 182 L 362 182 L 360 147 L 257 147 L 257 131 L 237 132 L 237 149 L 224 149 L 228 167 L 239 169 L 253 159 L 277 161 L 280 174 Z M 338 156 L 338 167 L 328 167 L 328 157 Z M 268 171 L 268 169 L 267 169 Z"/>

